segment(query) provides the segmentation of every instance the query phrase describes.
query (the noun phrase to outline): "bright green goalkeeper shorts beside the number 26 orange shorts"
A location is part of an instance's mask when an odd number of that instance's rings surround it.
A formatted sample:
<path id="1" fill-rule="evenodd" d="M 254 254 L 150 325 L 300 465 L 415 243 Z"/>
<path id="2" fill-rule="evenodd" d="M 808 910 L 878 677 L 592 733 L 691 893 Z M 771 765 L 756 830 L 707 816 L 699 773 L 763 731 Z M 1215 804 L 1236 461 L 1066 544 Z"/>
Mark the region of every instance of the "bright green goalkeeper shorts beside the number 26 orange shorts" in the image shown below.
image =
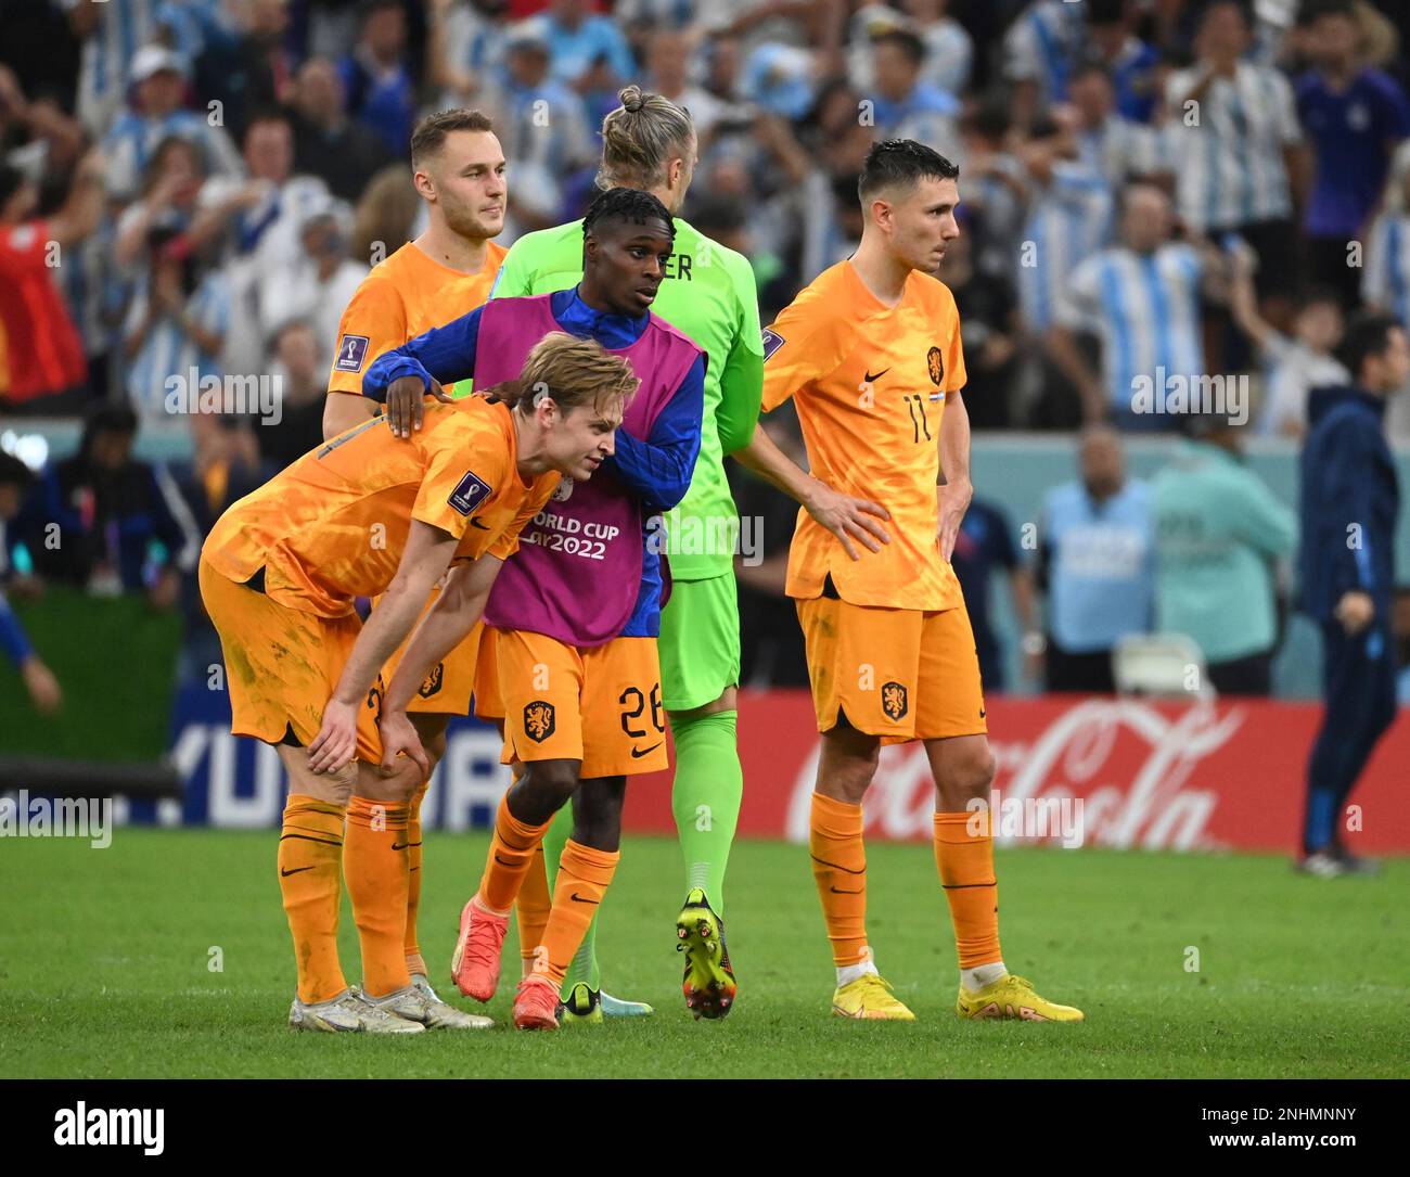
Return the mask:
<path id="1" fill-rule="evenodd" d="M 661 610 L 661 694 L 667 710 L 712 703 L 739 685 L 739 591 L 735 574 L 675 581 Z"/>

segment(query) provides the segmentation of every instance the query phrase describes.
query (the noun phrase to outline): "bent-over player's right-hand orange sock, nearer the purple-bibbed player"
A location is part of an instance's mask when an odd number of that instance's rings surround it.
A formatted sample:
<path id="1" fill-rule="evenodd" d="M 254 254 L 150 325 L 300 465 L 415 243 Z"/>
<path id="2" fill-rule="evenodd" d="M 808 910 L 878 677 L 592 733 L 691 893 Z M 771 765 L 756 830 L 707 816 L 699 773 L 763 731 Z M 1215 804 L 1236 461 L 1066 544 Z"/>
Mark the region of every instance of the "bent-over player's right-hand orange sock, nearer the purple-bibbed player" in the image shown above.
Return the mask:
<path id="1" fill-rule="evenodd" d="M 412 984 L 406 971 L 406 806 L 354 796 L 343 877 L 362 943 L 362 988 L 386 997 Z"/>

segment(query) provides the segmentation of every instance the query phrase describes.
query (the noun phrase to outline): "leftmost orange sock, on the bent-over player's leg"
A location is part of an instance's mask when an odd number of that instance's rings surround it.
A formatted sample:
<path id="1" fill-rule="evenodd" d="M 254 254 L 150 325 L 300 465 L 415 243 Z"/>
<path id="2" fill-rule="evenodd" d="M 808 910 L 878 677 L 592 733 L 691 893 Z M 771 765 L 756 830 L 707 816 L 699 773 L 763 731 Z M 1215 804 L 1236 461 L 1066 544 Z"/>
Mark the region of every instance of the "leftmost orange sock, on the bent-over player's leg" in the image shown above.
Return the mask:
<path id="1" fill-rule="evenodd" d="M 279 834 L 279 891 L 293 936 L 299 1001 L 331 1001 L 348 982 L 338 964 L 341 805 L 290 794 Z"/>

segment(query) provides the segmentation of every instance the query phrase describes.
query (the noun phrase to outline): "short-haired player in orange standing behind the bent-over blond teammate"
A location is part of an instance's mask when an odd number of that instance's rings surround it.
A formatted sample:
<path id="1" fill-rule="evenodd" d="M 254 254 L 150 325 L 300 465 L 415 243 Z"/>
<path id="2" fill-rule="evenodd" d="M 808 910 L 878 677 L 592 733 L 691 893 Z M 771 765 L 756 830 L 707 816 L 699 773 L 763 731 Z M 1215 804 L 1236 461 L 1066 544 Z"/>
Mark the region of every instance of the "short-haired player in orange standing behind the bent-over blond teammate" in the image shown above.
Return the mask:
<path id="1" fill-rule="evenodd" d="M 423 118 L 412 134 L 412 182 L 426 202 L 430 223 L 420 237 L 402 245 L 362 279 L 343 312 L 323 410 L 326 438 L 379 412 L 375 400 L 362 396 L 362 376 L 372 361 L 484 303 L 505 259 L 506 249 L 491 240 L 505 227 L 505 152 L 485 114 L 478 110 L 443 110 Z M 468 381 L 461 389 L 447 389 L 468 390 Z M 417 402 L 416 410 L 420 407 Z M 422 801 L 430 785 L 430 772 L 446 751 L 450 717 L 470 710 L 479 634 L 481 627 L 477 626 L 431 671 L 409 708 L 429 757 L 429 770 L 410 801 L 407 819 L 412 885 L 406 904 L 405 949 L 412 980 L 430 1001 L 439 998 L 426 975 L 416 926 L 422 895 Z M 384 668 L 388 682 L 403 650 L 398 650 Z M 546 885 L 540 889 L 547 892 Z M 543 899 L 547 905 L 547 894 Z"/>

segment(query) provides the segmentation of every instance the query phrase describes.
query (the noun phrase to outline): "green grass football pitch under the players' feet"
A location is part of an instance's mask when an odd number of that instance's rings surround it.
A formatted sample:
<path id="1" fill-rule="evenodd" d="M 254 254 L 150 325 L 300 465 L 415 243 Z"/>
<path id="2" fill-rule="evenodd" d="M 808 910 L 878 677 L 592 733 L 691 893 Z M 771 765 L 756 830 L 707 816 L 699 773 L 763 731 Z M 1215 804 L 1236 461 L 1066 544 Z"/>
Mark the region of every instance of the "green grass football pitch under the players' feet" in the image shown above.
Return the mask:
<path id="1" fill-rule="evenodd" d="M 422 944 L 436 974 L 485 847 L 484 833 L 426 839 Z M 963 1023 L 931 850 L 873 843 L 871 946 L 918 1018 L 887 1025 L 829 1013 L 807 850 L 740 842 L 728 896 L 740 997 L 712 1023 L 680 995 L 675 843 L 637 837 L 599 946 L 609 991 L 651 1001 L 654 1018 L 513 1030 L 512 930 L 489 1006 L 501 1025 L 388 1040 L 286 1028 L 274 856 L 272 832 L 118 829 L 106 850 L 0 842 L 0 1076 L 1410 1076 L 1406 860 L 1328 882 L 1280 857 L 1001 851 L 1005 960 L 1087 1022 Z M 341 935 L 355 980 L 347 905 Z"/>

